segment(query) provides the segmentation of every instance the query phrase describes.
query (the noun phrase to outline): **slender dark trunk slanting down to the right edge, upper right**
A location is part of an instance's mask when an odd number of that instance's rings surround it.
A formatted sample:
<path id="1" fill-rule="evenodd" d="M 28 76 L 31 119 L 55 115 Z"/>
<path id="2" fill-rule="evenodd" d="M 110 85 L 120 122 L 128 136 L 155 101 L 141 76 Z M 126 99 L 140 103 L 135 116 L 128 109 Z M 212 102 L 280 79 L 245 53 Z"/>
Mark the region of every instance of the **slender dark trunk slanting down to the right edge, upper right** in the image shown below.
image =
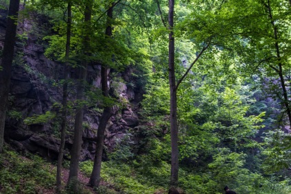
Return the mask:
<path id="1" fill-rule="evenodd" d="M 277 29 L 277 26 L 274 23 L 274 19 L 273 19 L 273 16 L 272 16 L 272 9 L 271 9 L 271 6 L 270 6 L 270 0 L 268 0 L 268 4 L 266 5 L 266 7 L 268 8 L 268 14 L 269 14 L 269 17 L 270 17 L 272 28 L 274 30 L 275 49 L 276 49 L 276 54 L 277 54 L 277 60 L 279 62 L 278 63 L 279 70 L 277 70 L 277 73 L 279 74 L 279 77 L 280 77 L 281 87 L 282 87 L 282 90 L 283 90 L 283 104 L 284 104 L 284 106 L 286 108 L 286 112 L 287 112 L 288 120 L 289 120 L 289 125 L 290 125 L 290 128 L 291 128 L 291 108 L 290 108 L 290 105 L 289 105 L 289 98 L 288 98 L 288 93 L 287 93 L 287 89 L 286 89 L 285 79 L 283 77 L 283 64 L 281 62 L 281 55 L 280 55 L 280 49 L 279 49 L 279 43 L 278 43 L 278 41 L 279 41 L 278 29 Z"/>

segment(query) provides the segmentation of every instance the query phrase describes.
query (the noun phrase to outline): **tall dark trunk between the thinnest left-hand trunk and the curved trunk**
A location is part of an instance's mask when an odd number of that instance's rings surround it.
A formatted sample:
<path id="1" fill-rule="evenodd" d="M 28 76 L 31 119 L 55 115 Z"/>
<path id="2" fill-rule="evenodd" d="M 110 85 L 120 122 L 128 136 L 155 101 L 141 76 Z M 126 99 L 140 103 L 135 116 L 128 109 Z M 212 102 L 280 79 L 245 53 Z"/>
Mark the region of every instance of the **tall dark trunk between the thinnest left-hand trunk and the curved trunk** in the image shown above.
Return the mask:
<path id="1" fill-rule="evenodd" d="M 84 100 L 84 83 L 86 82 L 86 69 L 88 65 L 88 59 L 86 59 L 86 56 L 89 56 L 89 49 L 90 49 L 90 36 L 91 30 L 88 29 L 91 26 L 91 13 L 92 13 L 92 6 L 93 6 L 93 0 L 90 0 L 86 4 L 85 12 L 84 12 L 84 23 L 86 25 L 84 30 L 84 60 L 82 62 L 82 66 L 80 67 L 80 76 L 79 76 L 79 83 L 77 86 L 77 99 L 82 101 Z M 75 114 L 75 126 L 74 126 L 74 136 L 73 136 L 73 146 L 71 148 L 71 162 L 70 162 L 70 168 L 69 168 L 69 180 L 68 185 L 73 184 L 73 189 L 76 188 L 76 184 L 74 184 L 75 181 L 78 180 L 78 171 L 79 171 L 79 160 L 80 160 L 80 152 L 81 152 L 81 146 L 82 146 L 82 123 L 83 123 L 83 112 L 84 108 L 82 105 L 79 105 L 79 107 L 76 110 Z"/>

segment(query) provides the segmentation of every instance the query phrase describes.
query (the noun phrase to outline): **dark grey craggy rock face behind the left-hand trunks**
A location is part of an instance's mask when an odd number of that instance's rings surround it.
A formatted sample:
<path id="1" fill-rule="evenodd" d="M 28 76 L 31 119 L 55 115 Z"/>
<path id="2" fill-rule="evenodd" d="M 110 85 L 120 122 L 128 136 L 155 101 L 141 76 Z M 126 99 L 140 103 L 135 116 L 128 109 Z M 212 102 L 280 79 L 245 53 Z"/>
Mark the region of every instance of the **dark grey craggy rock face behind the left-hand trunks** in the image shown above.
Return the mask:
<path id="1" fill-rule="evenodd" d="M 0 12 L 0 49 L 5 34 L 5 11 Z M 42 21 L 41 24 L 44 22 Z M 32 21 L 24 21 L 19 25 L 19 34 L 28 32 Z M 40 24 L 37 24 L 41 27 Z M 47 25 L 45 25 L 47 26 Z M 49 30 L 49 29 L 47 29 Z M 23 35 L 24 36 L 24 35 Z M 36 34 L 28 34 L 19 39 L 17 43 L 16 60 L 14 62 L 10 90 L 10 112 L 18 112 L 17 117 L 9 114 L 6 121 L 5 141 L 19 151 L 38 153 L 41 156 L 56 160 L 60 141 L 58 121 L 58 106 L 62 99 L 62 87 L 59 84 L 62 79 L 62 64 L 45 57 L 45 48 L 38 42 L 41 37 Z M 119 76 L 123 80 L 130 80 L 132 69 L 127 68 Z M 93 64 L 88 67 L 88 81 L 100 88 L 100 65 Z M 71 77 L 75 77 L 75 69 L 71 70 Z M 110 85 L 110 95 L 115 97 L 122 106 L 115 107 L 115 114 L 111 117 L 106 128 L 104 140 L 107 150 L 113 150 L 116 139 L 121 139 L 131 128 L 139 125 L 138 110 L 143 91 L 140 88 L 128 86 L 126 83 L 113 82 Z M 70 100 L 74 100 L 73 92 Z M 122 108 L 119 108 L 122 107 Z M 101 109 L 100 109 L 101 110 Z M 95 140 L 100 121 L 101 111 L 98 107 L 87 107 L 84 114 L 84 131 L 82 135 L 83 145 L 81 160 L 93 159 L 95 154 Z M 45 114 L 47 111 L 56 112 L 56 118 L 46 123 L 34 123 L 26 125 L 23 120 L 33 115 Z M 19 117 L 19 113 L 20 117 Z M 73 115 L 68 116 L 69 129 L 66 137 L 65 158 L 69 158 L 69 150 L 72 141 Z"/>

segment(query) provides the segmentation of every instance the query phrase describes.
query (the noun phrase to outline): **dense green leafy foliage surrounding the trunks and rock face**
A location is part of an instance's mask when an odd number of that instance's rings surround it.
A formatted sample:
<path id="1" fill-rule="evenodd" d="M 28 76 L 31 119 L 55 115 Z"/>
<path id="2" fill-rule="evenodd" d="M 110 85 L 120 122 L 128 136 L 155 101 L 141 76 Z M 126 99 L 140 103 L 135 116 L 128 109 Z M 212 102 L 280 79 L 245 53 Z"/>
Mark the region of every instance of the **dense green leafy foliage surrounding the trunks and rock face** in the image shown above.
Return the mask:
<path id="1" fill-rule="evenodd" d="M 0 8 L 7 9 L 8 2 L 0 2 Z M 225 185 L 237 193 L 291 192 L 288 1 L 177 1 L 173 29 L 165 23 L 169 9 L 166 1 L 92 1 L 92 19 L 84 21 L 88 2 L 27 1 L 21 16 L 32 21 L 32 13 L 45 17 L 49 32 L 35 26 L 32 32 L 19 30 L 18 36 L 21 43 L 27 34 L 34 34 L 45 47 L 47 58 L 69 64 L 72 69 L 82 69 L 84 62 L 106 66 L 111 70 L 108 77 L 112 87 L 124 83 L 144 91 L 139 126 L 128 130 L 116 140 L 115 150 L 108 151 L 98 193 L 150 194 L 167 193 L 169 189 L 169 33 L 175 38 L 174 75 L 178 82 L 177 186 L 192 194 L 222 193 Z M 65 55 L 67 3 L 72 5 L 69 57 Z M 111 8 L 113 16 L 108 17 L 106 12 Z M 108 26 L 113 29 L 110 37 L 104 34 Z M 21 63 L 21 59 L 15 60 Z M 128 67 L 132 69 L 129 81 L 118 75 Z M 68 103 L 71 115 L 84 106 L 100 116 L 101 108 L 129 104 L 117 90 L 108 97 L 89 82 L 45 80 L 54 87 L 67 83 L 73 94 L 76 85 L 83 87 L 84 97 Z M 62 104 L 51 107 L 56 109 L 61 110 Z M 57 121 L 58 114 L 48 111 L 24 122 Z M 22 119 L 15 110 L 9 110 L 8 117 Z M 86 123 L 81 125 L 89 128 Z M 59 138 L 60 133 L 56 134 Z M 1 154 L 3 192 L 37 193 L 53 187 L 54 172 L 42 159 L 30 157 L 22 160 L 13 151 Z M 80 164 L 87 175 L 92 168 L 91 161 Z"/>

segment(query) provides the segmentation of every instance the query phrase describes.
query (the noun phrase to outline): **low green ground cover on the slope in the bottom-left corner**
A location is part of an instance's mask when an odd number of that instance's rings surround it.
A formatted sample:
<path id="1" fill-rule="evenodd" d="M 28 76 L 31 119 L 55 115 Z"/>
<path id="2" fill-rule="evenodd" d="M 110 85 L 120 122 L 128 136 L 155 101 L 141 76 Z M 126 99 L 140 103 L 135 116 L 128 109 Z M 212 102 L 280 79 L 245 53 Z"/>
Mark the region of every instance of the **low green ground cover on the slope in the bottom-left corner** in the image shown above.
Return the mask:
<path id="1" fill-rule="evenodd" d="M 56 167 L 39 156 L 8 150 L 0 159 L 1 193 L 45 193 L 54 187 Z"/>

